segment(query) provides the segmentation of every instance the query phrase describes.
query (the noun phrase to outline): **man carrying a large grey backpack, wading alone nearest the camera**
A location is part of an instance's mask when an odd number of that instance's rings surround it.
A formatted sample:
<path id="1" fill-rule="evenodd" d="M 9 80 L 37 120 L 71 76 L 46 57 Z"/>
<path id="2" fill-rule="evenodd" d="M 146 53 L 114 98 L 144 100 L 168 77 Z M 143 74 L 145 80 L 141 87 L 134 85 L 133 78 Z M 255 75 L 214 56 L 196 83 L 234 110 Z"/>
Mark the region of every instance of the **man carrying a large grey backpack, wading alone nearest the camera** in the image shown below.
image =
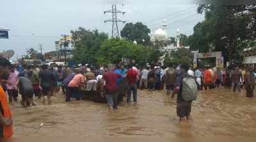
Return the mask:
<path id="1" fill-rule="evenodd" d="M 180 67 L 176 87 L 172 94 L 172 98 L 177 94 L 177 116 L 180 117 L 180 122 L 183 122 L 185 118 L 187 120 L 191 119 L 191 103 L 196 100 L 199 87 L 193 73 L 186 73 L 188 68 L 188 66 Z"/>

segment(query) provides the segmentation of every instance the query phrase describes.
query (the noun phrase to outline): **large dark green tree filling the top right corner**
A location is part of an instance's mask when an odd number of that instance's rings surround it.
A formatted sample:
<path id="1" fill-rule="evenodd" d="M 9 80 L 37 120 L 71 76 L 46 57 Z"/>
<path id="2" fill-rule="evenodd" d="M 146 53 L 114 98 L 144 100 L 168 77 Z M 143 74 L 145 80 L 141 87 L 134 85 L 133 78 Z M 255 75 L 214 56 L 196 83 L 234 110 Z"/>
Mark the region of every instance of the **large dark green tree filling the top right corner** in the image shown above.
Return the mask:
<path id="1" fill-rule="evenodd" d="M 200 52 L 225 52 L 226 61 L 241 60 L 244 41 L 253 36 L 255 17 L 250 16 L 247 5 L 200 5 L 198 13 L 205 13 L 205 20 L 194 27 L 188 42 L 192 50 Z M 251 26 L 250 26 L 251 25 Z"/>

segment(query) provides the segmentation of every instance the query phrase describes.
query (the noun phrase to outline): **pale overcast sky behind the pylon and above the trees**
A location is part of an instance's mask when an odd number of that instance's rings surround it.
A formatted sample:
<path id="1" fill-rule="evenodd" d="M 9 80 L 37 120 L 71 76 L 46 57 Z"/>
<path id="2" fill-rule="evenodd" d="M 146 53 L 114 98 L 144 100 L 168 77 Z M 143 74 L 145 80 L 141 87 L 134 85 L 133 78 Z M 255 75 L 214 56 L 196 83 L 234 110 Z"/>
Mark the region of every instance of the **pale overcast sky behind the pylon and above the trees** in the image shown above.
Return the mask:
<path id="1" fill-rule="evenodd" d="M 110 0 L 109 0 L 110 1 Z M 111 18 L 111 14 L 104 15 L 103 11 L 111 8 L 108 0 L 2 0 L 0 8 L 0 28 L 10 29 L 10 39 L 0 39 L 0 50 L 15 50 L 13 57 L 20 57 L 26 48 L 43 45 L 43 52 L 54 50 L 54 41 L 60 39 L 61 34 L 70 34 L 70 30 L 81 26 L 86 29 L 99 29 L 111 36 L 111 23 L 104 24 L 104 20 Z M 118 18 L 126 22 L 143 22 L 151 31 L 168 21 L 168 34 L 175 36 L 175 31 L 192 34 L 197 22 L 204 19 L 204 15 L 196 13 L 196 4 L 174 3 L 140 3 L 121 1 L 118 10 L 125 11 L 125 15 Z M 124 24 L 118 24 L 121 30 Z"/>

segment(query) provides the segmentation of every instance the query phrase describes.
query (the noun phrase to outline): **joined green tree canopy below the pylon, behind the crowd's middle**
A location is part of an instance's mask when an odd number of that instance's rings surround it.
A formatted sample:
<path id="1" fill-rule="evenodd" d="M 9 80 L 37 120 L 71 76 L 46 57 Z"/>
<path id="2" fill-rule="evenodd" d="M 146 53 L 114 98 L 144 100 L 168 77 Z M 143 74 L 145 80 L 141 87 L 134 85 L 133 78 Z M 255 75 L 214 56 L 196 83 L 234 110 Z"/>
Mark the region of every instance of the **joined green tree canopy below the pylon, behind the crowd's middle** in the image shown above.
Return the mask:
<path id="1" fill-rule="evenodd" d="M 153 46 L 135 45 L 128 39 L 108 39 L 108 34 L 98 30 L 86 30 L 79 27 L 71 31 L 73 44 L 73 59 L 77 62 L 89 64 L 118 64 L 122 58 L 135 59 L 137 64 L 145 66 L 146 63 L 159 60 L 159 50 Z"/>

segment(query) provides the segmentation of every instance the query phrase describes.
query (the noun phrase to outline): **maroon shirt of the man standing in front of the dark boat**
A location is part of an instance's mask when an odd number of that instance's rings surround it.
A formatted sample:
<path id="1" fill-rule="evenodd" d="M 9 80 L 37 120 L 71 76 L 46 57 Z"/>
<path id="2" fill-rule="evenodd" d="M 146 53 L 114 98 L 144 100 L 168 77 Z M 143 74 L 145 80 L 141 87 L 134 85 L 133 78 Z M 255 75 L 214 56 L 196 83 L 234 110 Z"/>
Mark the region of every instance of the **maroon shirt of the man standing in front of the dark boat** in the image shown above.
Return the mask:
<path id="1" fill-rule="evenodd" d="M 118 85 L 116 83 L 116 80 L 121 77 L 122 77 L 121 75 L 113 71 L 108 71 L 104 73 L 104 75 L 102 76 L 102 79 L 106 81 L 105 88 L 107 92 L 116 92 L 118 90 Z"/>

